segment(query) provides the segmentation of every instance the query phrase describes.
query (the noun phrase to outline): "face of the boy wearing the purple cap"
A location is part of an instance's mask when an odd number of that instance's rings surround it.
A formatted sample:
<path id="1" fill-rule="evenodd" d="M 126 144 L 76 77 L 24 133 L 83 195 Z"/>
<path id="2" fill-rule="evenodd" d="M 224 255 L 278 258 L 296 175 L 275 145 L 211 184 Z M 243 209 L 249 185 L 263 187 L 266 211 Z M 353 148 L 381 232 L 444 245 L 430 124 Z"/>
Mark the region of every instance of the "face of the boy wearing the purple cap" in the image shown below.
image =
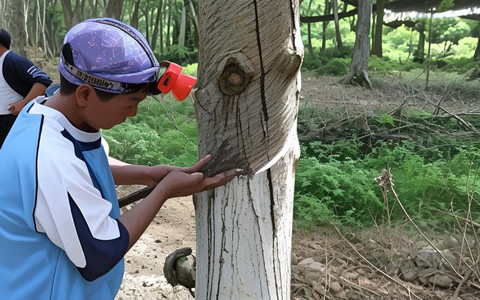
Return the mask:
<path id="1" fill-rule="evenodd" d="M 138 104 L 144 100 L 148 92 L 119 94 L 108 101 L 100 101 L 98 96 L 86 107 L 86 121 L 94 129 L 110 129 L 125 122 L 128 117 L 137 115 Z"/>

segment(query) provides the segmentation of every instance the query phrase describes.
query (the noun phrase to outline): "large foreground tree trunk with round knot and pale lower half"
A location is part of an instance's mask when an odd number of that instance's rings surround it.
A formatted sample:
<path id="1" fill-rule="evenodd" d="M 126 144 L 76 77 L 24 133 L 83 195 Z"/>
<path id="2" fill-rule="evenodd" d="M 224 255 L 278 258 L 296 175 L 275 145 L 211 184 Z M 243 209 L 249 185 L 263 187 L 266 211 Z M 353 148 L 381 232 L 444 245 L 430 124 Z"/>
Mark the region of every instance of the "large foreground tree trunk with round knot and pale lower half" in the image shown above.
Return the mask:
<path id="1" fill-rule="evenodd" d="M 195 195 L 196 299 L 290 299 L 303 45 L 299 3 L 199 2 L 193 92 L 205 174 L 244 177 Z"/>

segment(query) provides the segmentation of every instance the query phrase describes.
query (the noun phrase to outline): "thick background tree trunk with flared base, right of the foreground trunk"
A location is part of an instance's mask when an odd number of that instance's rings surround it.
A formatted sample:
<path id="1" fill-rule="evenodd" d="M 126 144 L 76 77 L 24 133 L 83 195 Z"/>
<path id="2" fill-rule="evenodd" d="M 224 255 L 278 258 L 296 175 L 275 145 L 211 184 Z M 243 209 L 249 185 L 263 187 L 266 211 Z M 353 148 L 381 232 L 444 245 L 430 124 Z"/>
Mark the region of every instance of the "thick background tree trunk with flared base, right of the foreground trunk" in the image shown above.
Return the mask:
<path id="1" fill-rule="evenodd" d="M 358 2 L 358 21 L 353 47 L 353 58 L 350 64 L 350 72 L 342 80 L 343 84 L 366 84 L 372 87 L 368 79 L 368 58 L 370 56 L 370 17 L 372 16 L 372 0 L 359 0 Z"/>

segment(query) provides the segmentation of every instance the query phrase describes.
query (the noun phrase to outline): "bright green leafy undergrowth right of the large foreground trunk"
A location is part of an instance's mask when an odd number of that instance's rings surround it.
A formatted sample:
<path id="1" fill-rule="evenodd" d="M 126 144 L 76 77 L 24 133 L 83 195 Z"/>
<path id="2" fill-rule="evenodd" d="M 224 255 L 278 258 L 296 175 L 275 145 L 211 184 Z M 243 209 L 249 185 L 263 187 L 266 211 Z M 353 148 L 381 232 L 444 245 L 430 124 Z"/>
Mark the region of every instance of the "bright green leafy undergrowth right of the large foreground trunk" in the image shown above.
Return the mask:
<path id="1" fill-rule="evenodd" d="M 440 220 L 439 211 L 468 210 L 467 192 L 480 196 L 477 176 L 480 150 L 459 149 L 452 159 L 427 162 L 414 152 L 412 145 L 381 143 L 368 154 L 358 145 L 347 148 L 339 144 L 310 143 L 303 148 L 297 165 L 295 189 L 295 221 L 299 224 L 320 225 L 327 221 L 362 226 L 372 222 L 372 216 L 386 215 L 380 189 L 373 179 L 382 169 L 391 168 L 395 191 L 411 216 L 423 220 Z M 458 149 L 458 148 L 457 148 Z M 353 157 L 345 156 L 349 152 Z M 468 191 L 466 186 L 468 186 Z M 392 221 L 405 218 L 390 193 Z M 474 211 L 480 209 L 473 203 Z M 478 215 L 477 215 L 478 217 Z"/>

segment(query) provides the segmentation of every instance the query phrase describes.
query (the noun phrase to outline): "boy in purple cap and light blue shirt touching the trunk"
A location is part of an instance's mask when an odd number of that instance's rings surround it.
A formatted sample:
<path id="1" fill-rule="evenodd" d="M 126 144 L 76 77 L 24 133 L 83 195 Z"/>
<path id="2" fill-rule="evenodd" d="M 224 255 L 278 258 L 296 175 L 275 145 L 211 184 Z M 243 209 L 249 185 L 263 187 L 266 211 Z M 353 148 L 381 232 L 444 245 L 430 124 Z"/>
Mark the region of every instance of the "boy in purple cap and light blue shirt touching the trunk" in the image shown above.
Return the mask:
<path id="1" fill-rule="evenodd" d="M 67 32 L 59 92 L 29 102 L 0 151 L 2 299 L 114 299 L 124 255 L 165 201 L 234 178 L 205 177 L 210 156 L 190 167 L 107 157 L 101 130 L 159 93 L 160 65 L 145 38 L 120 21 L 89 19 Z M 116 184 L 155 188 L 120 214 Z"/>

